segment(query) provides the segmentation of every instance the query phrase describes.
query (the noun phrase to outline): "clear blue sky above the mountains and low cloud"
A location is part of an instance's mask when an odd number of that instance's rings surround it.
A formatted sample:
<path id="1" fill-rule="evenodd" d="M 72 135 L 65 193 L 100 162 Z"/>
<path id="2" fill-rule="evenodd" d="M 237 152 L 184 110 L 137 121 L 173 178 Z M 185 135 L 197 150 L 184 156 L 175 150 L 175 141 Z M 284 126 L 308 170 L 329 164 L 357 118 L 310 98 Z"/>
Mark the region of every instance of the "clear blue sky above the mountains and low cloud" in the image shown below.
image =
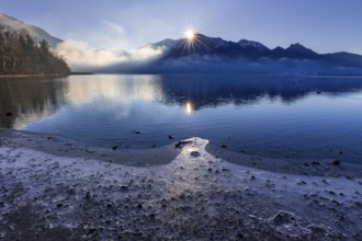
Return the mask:
<path id="1" fill-rule="evenodd" d="M 301 43 L 318 53 L 362 54 L 361 0 L 0 0 L 0 11 L 93 48 L 129 50 L 179 38 L 193 25 L 270 48 Z"/>

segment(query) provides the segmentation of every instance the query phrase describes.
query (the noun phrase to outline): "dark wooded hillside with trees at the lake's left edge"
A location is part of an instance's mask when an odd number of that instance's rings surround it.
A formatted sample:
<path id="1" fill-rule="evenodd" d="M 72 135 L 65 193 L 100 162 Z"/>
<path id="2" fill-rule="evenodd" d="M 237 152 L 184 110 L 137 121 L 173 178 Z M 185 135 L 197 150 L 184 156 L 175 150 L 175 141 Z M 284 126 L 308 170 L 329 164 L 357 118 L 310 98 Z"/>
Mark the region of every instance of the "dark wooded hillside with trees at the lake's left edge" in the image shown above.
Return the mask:
<path id="1" fill-rule="evenodd" d="M 69 67 L 46 41 L 0 32 L 0 74 L 67 74 Z"/>

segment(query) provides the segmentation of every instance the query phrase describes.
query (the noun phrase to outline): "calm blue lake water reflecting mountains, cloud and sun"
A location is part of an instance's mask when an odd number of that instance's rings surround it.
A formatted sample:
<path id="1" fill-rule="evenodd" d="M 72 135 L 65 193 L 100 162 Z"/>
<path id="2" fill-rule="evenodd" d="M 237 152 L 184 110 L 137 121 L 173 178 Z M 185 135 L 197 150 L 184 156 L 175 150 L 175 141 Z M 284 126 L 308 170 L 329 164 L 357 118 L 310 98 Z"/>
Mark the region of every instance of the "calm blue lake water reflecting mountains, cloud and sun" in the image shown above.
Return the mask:
<path id="1" fill-rule="evenodd" d="M 0 79 L 0 126 L 102 147 L 148 148 L 197 136 L 250 154 L 362 163 L 362 78 Z"/>

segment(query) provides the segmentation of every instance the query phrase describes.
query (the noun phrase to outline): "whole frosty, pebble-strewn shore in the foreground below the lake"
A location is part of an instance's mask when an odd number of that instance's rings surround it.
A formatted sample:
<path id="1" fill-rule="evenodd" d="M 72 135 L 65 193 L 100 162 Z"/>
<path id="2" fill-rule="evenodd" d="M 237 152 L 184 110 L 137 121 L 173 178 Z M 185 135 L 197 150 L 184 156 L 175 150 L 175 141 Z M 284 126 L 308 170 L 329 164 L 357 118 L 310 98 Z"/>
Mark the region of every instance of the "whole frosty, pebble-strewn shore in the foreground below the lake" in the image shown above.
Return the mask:
<path id="1" fill-rule="evenodd" d="M 343 163 L 324 176 L 265 171 L 216 158 L 207 144 L 191 138 L 151 162 L 162 148 L 1 130 L 0 239 L 362 239 L 362 179 Z"/>

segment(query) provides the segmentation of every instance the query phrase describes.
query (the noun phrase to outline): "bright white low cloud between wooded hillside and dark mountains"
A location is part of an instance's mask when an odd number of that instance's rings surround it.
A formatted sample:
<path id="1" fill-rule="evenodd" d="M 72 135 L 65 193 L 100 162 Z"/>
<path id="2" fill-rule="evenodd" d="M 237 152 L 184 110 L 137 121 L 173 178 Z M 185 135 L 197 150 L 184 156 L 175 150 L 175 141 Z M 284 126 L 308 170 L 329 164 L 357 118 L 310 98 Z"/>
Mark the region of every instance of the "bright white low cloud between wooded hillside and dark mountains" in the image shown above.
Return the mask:
<path id="1" fill-rule="evenodd" d="M 133 51 L 111 48 L 90 48 L 84 42 L 67 39 L 56 46 L 56 51 L 64 56 L 72 71 L 117 72 L 127 69 L 146 68 L 162 56 L 166 46 L 146 45 Z"/>

